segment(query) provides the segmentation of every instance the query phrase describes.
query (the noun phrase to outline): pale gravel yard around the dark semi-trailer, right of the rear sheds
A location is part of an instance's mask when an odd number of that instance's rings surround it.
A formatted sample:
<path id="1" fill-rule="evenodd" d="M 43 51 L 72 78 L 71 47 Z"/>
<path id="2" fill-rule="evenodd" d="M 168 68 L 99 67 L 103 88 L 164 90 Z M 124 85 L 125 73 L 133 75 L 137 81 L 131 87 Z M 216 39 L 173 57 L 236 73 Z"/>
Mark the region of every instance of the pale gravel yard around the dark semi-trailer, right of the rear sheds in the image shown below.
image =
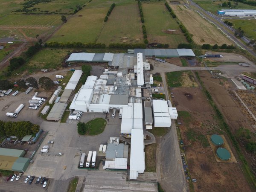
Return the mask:
<path id="1" fill-rule="evenodd" d="M 221 58 L 206 58 L 206 59 L 204 59 L 204 61 L 244 62 L 244 63 L 248 63 L 248 64 L 253 64 L 252 61 L 250 61 L 243 55 L 239 55 L 236 53 L 207 51 L 206 54 L 220 54 L 223 57 L 221 57 Z"/>

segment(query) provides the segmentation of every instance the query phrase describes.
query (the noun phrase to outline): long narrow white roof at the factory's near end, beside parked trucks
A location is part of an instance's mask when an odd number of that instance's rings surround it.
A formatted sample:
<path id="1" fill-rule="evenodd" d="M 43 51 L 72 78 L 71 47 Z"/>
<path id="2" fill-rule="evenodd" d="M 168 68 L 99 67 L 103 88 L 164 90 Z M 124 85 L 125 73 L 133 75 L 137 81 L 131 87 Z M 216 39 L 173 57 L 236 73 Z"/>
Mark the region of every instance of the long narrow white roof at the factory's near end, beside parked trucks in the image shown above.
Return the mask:
<path id="1" fill-rule="evenodd" d="M 143 129 L 131 130 L 130 179 L 137 179 L 138 173 L 145 170 Z"/>

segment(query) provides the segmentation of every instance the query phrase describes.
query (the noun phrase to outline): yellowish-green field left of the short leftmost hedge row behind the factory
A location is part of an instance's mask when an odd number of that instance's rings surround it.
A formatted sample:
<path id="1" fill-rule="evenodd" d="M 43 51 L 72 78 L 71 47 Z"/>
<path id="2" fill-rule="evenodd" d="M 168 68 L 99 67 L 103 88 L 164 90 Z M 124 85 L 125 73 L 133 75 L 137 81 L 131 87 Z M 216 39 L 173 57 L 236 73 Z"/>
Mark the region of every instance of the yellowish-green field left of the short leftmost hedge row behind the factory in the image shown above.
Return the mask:
<path id="1" fill-rule="evenodd" d="M 96 42 L 109 8 L 82 9 L 55 32 L 49 41 Z M 81 15 L 79 17 L 79 15 Z"/>

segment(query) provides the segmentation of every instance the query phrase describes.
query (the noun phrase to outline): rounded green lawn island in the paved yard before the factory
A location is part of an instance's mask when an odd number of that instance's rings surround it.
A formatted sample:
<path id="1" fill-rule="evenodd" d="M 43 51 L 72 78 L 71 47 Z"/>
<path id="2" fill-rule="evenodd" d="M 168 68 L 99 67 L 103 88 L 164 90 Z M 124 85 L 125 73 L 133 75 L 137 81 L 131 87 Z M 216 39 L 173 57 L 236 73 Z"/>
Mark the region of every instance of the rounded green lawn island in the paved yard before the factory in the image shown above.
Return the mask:
<path id="1" fill-rule="evenodd" d="M 85 127 L 87 128 L 85 135 L 101 134 L 104 131 L 106 124 L 107 124 L 106 120 L 102 118 L 96 118 L 87 122 L 85 124 Z"/>

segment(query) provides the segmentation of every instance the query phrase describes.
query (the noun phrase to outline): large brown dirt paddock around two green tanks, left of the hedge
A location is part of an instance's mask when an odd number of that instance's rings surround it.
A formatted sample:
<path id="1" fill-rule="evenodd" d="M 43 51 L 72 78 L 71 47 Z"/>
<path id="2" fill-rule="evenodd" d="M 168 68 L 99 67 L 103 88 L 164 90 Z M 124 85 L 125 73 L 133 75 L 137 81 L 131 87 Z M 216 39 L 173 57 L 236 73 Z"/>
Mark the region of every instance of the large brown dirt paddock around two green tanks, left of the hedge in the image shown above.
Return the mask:
<path id="1" fill-rule="evenodd" d="M 207 72 L 200 75 L 208 77 Z M 180 113 L 178 121 L 182 122 L 179 127 L 189 172 L 197 179 L 197 183 L 193 183 L 195 191 L 250 191 L 239 164 L 218 163 L 209 147 L 206 135 L 223 132 L 215 127 L 218 122 L 214 111 L 200 88 L 173 88 L 171 91 L 177 110 L 189 112 Z M 230 147 L 234 153 L 232 145 Z"/>

